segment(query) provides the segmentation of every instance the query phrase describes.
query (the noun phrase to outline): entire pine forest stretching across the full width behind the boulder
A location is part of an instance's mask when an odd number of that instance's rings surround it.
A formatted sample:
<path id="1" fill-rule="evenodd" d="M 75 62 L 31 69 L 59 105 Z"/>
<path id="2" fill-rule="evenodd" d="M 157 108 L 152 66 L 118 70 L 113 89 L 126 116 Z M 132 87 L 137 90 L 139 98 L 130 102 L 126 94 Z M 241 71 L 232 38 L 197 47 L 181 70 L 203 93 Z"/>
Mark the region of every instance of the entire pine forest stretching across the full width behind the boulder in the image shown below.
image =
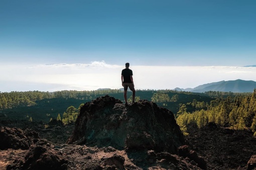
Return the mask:
<path id="1" fill-rule="evenodd" d="M 0 92 L 0 112 L 11 118 L 25 120 L 51 119 L 63 123 L 75 121 L 80 106 L 108 94 L 123 101 L 120 89 L 93 91 L 63 90 L 55 92 L 25 91 Z M 127 92 L 129 101 L 132 92 Z M 177 115 L 177 122 L 186 133 L 187 126 L 202 127 L 208 122 L 236 129 L 256 130 L 256 101 L 254 93 L 207 91 L 192 93 L 177 90 L 137 90 L 136 100 L 147 99 L 168 108 Z"/>

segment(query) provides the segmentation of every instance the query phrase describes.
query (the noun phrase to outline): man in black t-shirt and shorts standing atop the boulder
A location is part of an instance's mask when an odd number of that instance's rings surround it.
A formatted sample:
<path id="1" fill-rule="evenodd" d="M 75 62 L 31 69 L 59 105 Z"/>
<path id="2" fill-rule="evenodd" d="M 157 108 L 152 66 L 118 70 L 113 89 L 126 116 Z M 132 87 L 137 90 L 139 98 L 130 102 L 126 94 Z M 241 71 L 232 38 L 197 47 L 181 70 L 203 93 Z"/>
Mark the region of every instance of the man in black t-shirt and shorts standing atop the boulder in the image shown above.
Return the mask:
<path id="1" fill-rule="evenodd" d="M 127 104 L 127 89 L 128 87 L 130 90 L 133 91 L 133 102 L 135 100 L 135 88 L 134 88 L 134 79 L 133 79 L 133 71 L 132 69 L 129 69 L 130 63 L 125 63 L 125 69 L 122 70 L 121 73 L 121 80 L 122 80 L 122 86 L 124 89 L 123 97 L 125 100 L 125 104 Z"/>

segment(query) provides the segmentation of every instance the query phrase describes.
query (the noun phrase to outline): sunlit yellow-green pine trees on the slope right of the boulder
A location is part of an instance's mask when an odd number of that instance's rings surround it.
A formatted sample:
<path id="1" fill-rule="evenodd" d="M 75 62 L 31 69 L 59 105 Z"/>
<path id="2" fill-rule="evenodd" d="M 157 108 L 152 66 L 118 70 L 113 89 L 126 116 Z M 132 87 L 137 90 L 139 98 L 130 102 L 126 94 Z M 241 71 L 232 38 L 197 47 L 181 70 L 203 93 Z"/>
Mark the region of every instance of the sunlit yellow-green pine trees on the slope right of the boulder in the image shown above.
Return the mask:
<path id="1" fill-rule="evenodd" d="M 189 112 L 187 106 L 190 105 L 196 110 Z M 221 127 L 251 129 L 255 132 L 256 90 L 250 95 L 218 97 L 205 107 L 198 106 L 196 101 L 182 104 L 177 114 L 177 123 L 185 133 L 189 125 L 202 127 L 208 122 L 214 122 Z"/>

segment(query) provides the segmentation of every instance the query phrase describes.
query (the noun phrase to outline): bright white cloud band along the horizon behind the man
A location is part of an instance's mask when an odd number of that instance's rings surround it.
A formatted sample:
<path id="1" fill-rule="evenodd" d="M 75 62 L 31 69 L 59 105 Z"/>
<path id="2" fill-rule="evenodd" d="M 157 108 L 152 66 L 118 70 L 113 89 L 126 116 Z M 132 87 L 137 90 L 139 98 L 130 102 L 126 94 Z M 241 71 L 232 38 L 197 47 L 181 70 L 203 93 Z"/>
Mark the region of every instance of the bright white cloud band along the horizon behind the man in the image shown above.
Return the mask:
<path id="1" fill-rule="evenodd" d="M 121 69 L 124 68 L 104 61 L 0 66 L 0 91 L 121 88 Z M 256 81 L 256 67 L 131 65 L 130 68 L 137 89 L 187 88 L 234 79 Z"/>

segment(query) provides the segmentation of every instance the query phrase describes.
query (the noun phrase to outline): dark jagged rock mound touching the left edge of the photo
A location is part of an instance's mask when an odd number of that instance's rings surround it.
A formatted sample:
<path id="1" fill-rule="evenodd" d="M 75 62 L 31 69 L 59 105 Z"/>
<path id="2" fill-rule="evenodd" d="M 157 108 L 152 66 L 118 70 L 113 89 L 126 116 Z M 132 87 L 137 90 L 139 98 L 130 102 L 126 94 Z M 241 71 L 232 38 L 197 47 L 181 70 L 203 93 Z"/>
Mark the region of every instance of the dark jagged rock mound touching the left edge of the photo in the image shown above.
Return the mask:
<path id="1" fill-rule="evenodd" d="M 35 131 L 24 132 L 19 128 L 0 126 L 0 149 L 28 149 L 31 143 L 38 141 L 38 133 Z"/>

